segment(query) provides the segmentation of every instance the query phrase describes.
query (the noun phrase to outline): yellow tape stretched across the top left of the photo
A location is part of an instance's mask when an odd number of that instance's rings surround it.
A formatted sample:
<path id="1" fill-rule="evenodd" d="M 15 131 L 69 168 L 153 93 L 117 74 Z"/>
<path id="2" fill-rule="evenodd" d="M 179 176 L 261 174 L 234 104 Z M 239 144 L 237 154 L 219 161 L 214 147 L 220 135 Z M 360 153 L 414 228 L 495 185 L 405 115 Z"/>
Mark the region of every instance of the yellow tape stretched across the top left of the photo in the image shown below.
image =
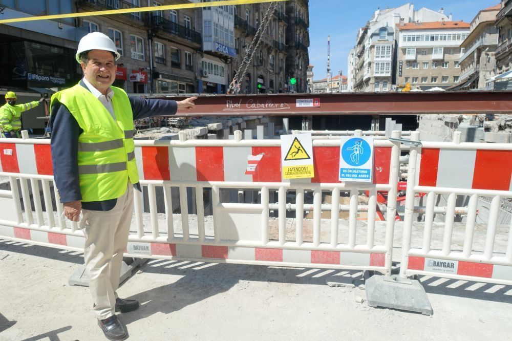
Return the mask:
<path id="1" fill-rule="evenodd" d="M 209 3 L 193 3 L 193 4 L 139 7 L 139 8 L 124 8 L 124 9 L 109 10 L 109 11 L 80 12 L 80 13 L 30 16 L 30 17 L 23 17 L 23 18 L 4 19 L 4 20 L 0 20 L 0 24 L 33 22 L 35 20 L 77 18 L 77 17 L 81 17 L 81 16 L 91 16 L 91 15 L 150 12 L 150 11 L 176 10 L 176 9 L 185 9 L 185 8 L 201 8 L 201 7 L 228 6 L 228 5 L 261 4 L 261 3 L 270 3 L 273 1 L 281 2 L 281 1 L 288 1 L 288 0 L 221 0 L 221 1 L 215 1 L 215 2 L 209 2 Z"/>

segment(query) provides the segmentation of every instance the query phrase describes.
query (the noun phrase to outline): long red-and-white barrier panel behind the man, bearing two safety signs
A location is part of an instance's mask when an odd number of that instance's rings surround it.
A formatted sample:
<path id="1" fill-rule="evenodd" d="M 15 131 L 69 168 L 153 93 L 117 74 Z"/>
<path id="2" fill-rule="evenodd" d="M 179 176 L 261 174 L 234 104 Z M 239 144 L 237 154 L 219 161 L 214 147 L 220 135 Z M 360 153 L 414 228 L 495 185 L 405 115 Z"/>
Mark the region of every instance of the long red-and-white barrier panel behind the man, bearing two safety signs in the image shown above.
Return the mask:
<path id="1" fill-rule="evenodd" d="M 313 141 L 315 177 L 292 180 L 281 174 L 280 140 L 241 140 L 239 133 L 236 140 L 135 143 L 140 183 L 147 188 L 147 198 L 135 191 L 135 223 L 127 254 L 390 273 L 398 143 L 374 141 L 374 179 L 366 185 L 338 180 L 340 153 L 335 140 Z M 255 171 L 246 174 L 248 156 L 260 154 L 263 157 Z M 58 200 L 52 202 L 57 195 L 49 141 L 3 140 L 0 164 L 0 176 L 8 177 L 11 187 L 0 193 L 0 238 L 81 250 L 84 238 L 79 226 L 61 220 L 62 206 Z M 223 193 L 233 189 L 258 192 L 259 196 L 250 203 L 232 203 Z M 41 190 L 42 195 L 37 195 Z M 368 202 L 360 203 L 359 196 L 367 191 Z M 383 243 L 376 243 L 374 236 L 377 191 L 388 192 Z M 340 204 L 344 192 L 349 194 L 348 204 Z M 157 200 L 158 193 L 162 193 L 163 205 Z M 274 193 L 276 200 L 271 198 Z M 211 196 L 211 215 L 204 214 L 205 194 L 207 199 Z M 294 202 L 287 203 L 287 194 Z M 307 203 L 305 197 L 310 194 L 312 203 Z M 322 203 L 323 195 L 331 196 L 330 203 Z M 173 215 L 176 200 L 179 215 Z M 195 209 L 188 212 L 191 201 Z M 277 212 L 276 222 L 271 211 Z M 304 218 L 307 211 L 312 218 Z M 328 231 L 322 228 L 326 211 L 331 217 Z M 348 212 L 348 222 L 339 220 L 340 211 Z M 358 226 L 361 211 L 367 212 L 364 227 Z M 294 219 L 293 228 L 288 226 L 287 212 Z M 366 238 L 358 242 L 356 235 L 362 228 L 366 228 Z"/>

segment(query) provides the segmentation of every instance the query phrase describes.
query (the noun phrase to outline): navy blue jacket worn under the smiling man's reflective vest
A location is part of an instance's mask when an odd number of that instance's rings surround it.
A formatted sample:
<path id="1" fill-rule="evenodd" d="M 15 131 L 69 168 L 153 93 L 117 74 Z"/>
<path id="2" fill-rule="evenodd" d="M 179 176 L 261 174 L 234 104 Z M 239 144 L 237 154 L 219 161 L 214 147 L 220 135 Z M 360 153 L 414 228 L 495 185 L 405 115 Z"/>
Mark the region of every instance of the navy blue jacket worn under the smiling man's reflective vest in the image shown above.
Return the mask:
<path id="1" fill-rule="evenodd" d="M 85 84 L 80 81 L 80 85 Z M 87 87 L 85 87 L 87 89 Z M 133 119 L 174 115 L 178 105 L 174 100 L 147 99 L 129 96 Z M 53 177 L 60 202 L 82 200 L 78 181 L 78 136 L 83 130 L 65 105 L 55 102 L 50 116 Z M 140 185 L 135 186 L 140 190 Z M 82 202 L 82 208 L 106 211 L 114 208 L 117 199 Z"/>

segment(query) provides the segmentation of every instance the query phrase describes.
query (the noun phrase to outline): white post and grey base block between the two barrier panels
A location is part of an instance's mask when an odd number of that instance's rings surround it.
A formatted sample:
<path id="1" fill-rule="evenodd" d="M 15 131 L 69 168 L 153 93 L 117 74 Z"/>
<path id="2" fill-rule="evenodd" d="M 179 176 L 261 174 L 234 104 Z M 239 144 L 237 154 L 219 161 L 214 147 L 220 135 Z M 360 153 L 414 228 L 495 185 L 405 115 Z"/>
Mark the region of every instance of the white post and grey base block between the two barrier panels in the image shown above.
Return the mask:
<path id="1" fill-rule="evenodd" d="M 419 133 L 413 132 L 411 140 L 418 141 Z M 407 177 L 406 207 L 403 222 L 402 263 L 400 275 L 371 276 L 365 282 L 370 307 L 393 308 L 432 315 L 432 305 L 425 289 L 417 280 L 406 276 L 408 252 L 411 245 L 411 230 L 414 213 L 414 186 L 416 184 L 416 161 L 419 147 L 411 147 L 409 173 Z M 391 183 L 391 182 L 390 182 Z M 391 192 L 390 192 L 391 193 Z M 389 217 L 388 217 L 389 218 Z"/>

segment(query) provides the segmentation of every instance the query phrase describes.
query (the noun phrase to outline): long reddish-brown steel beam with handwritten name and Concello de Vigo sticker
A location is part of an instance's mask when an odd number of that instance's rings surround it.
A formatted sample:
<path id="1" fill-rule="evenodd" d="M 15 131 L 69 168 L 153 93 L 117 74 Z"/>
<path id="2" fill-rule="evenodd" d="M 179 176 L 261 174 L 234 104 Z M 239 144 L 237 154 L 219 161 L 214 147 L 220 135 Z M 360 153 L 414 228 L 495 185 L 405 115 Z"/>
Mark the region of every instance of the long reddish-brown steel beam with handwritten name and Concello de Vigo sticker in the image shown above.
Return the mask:
<path id="1" fill-rule="evenodd" d="M 200 95 L 196 108 L 179 116 L 421 114 L 512 114 L 512 92 Z"/>

